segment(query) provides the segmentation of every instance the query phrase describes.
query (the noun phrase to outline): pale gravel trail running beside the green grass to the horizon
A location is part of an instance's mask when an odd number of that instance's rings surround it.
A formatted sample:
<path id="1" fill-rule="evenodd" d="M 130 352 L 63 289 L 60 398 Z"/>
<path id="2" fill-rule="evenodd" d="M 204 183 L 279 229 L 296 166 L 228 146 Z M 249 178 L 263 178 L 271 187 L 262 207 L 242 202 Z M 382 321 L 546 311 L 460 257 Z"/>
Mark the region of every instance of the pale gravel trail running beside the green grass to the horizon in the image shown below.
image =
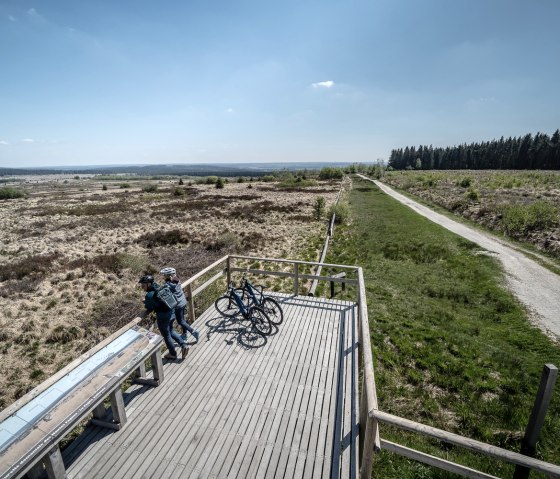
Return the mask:
<path id="1" fill-rule="evenodd" d="M 504 266 L 508 287 L 527 307 L 531 319 L 545 332 L 560 338 L 560 276 L 489 234 L 436 213 L 379 181 L 359 176 L 434 223 L 494 254 Z"/>

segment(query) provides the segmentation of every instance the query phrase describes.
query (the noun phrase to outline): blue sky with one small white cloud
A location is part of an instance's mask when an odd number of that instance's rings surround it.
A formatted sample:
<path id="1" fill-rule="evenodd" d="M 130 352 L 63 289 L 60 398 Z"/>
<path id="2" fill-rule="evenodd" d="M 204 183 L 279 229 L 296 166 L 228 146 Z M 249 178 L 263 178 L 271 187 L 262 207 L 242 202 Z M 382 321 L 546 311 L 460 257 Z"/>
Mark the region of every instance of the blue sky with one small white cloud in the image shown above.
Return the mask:
<path id="1" fill-rule="evenodd" d="M 560 128 L 557 0 L 0 0 L 0 166 L 365 161 Z"/>

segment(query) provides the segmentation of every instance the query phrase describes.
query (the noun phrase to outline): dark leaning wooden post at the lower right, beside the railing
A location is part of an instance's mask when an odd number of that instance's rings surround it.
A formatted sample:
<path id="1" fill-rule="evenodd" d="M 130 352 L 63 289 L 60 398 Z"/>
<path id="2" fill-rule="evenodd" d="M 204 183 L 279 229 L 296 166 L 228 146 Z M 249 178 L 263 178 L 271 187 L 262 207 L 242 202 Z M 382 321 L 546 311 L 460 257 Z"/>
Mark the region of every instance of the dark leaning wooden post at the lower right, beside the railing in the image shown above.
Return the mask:
<path id="1" fill-rule="evenodd" d="M 550 399 L 552 398 L 554 383 L 556 382 L 557 376 L 558 368 L 554 366 L 554 364 L 544 365 L 541 375 L 541 383 L 539 385 L 539 390 L 537 391 L 537 396 L 535 397 L 535 404 L 533 405 L 533 411 L 531 412 L 531 417 L 529 418 L 529 423 L 527 424 L 527 429 L 525 430 L 525 437 L 521 442 L 520 452 L 525 456 L 533 457 L 535 455 L 537 441 L 541 433 L 546 411 L 550 405 Z M 519 465 L 515 466 L 513 478 L 527 479 L 530 472 L 531 470 L 527 467 Z"/>

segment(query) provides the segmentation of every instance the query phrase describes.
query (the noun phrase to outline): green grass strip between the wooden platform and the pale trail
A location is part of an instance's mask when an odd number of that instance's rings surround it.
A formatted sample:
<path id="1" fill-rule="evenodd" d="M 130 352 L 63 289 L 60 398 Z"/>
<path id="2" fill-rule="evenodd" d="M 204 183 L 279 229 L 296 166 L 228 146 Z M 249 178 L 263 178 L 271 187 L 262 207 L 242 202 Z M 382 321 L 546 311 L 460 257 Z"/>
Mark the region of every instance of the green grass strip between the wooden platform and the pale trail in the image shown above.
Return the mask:
<path id="1" fill-rule="evenodd" d="M 337 229 L 326 261 L 364 268 L 380 408 L 518 451 L 543 365 L 560 365 L 559 345 L 529 324 L 498 262 L 477 245 L 369 182 L 355 180 L 349 202 L 352 223 Z M 386 426 L 381 435 L 491 474 L 513 471 Z M 560 387 L 537 457 L 560 457 Z M 455 477 L 389 452 L 374 467 L 384 478 Z"/>

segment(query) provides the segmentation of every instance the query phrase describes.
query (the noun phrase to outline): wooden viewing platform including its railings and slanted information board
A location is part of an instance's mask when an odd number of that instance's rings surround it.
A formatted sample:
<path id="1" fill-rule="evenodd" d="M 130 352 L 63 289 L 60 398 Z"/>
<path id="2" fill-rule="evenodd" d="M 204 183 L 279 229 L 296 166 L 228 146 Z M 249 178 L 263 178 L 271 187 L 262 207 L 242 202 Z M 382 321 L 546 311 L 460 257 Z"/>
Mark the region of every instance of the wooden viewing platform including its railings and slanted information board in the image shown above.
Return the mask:
<path id="1" fill-rule="evenodd" d="M 326 273 L 321 273 L 322 268 Z M 244 334 L 248 325 L 223 318 L 213 305 L 195 317 L 195 298 L 214 285 L 213 293 L 206 291 L 207 303 L 218 287 L 216 281 L 225 276 L 229 284 L 232 275 L 240 272 L 280 278 L 284 287 L 291 283 L 293 288 L 292 294 L 275 294 L 283 306 L 284 321 L 266 341 L 251 342 Z M 355 293 L 356 300 L 301 296 L 308 281 L 330 282 L 331 291 L 334 284 L 342 283 Z M 183 288 L 189 299 L 188 316 L 201 333 L 200 343 L 187 358 L 162 365 L 159 347 L 155 352 L 151 347 L 136 352 L 126 347 L 117 348 L 120 352 L 103 367 L 89 364 L 103 348 L 121 344 L 125 335 L 139 331 L 141 318 L 135 318 L 0 412 L 3 479 L 19 478 L 25 472 L 33 479 L 45 473 L 50 479 L 366 479 L 371 477 L 374 453 L 381 448 L 463 477 L 496 479 L 383 439 L 379 423 L 473 450 L 527 472 L 533 469 L 560 478 L 558 465 L 378 409 L 362 268 L 230 255 L 189 278 Z M 161 342 L 159 336 L 150 334 L 150 342 Z M 126 355 L 133 356 L 128 366 L 111 372 Z M 147 373 L 144 359 L 148 355 L 155 368 Z M 68 378 L 86 366 L 93 368 L 92 375 L 75 385 L 83 388 L 81 396 L 69 390 L 71 394 L 61 394 L 52 408 L 45 406 L 43 413 L 31 419 L 28 409 L 39 398 L 58 384 L 71 382 Z M 121 395 L 120 384 L 134 368 L 138 368 L 135 380 L 140 384 Z M 100 387 L 92 382 L 102 378 Z M 148 386 L 157 387 L 142 394 Z M 88 396 L 92 387 L 95 393 Z M 66 434 L 91 408 L 95 408 L 94 417 L 108 413 L 100 402 L 105 393 L 111 393 L 112 418 L 90 423 L 62 456 L 58 448 L 62 434 L 49 435 L 44 444 L 34 442 L 37 431 L 60 429 L 59 423 Z M 72 409 L 74 403 L 68 398 L 79 399 L 79 407 Z M 66 410 L 74 412 L 61 413 Z M 22 418 L 28 422 L 26 431 L 32 433 L 14 428 Z M 112 427 L 107 429 L 108 425 Z"/>

